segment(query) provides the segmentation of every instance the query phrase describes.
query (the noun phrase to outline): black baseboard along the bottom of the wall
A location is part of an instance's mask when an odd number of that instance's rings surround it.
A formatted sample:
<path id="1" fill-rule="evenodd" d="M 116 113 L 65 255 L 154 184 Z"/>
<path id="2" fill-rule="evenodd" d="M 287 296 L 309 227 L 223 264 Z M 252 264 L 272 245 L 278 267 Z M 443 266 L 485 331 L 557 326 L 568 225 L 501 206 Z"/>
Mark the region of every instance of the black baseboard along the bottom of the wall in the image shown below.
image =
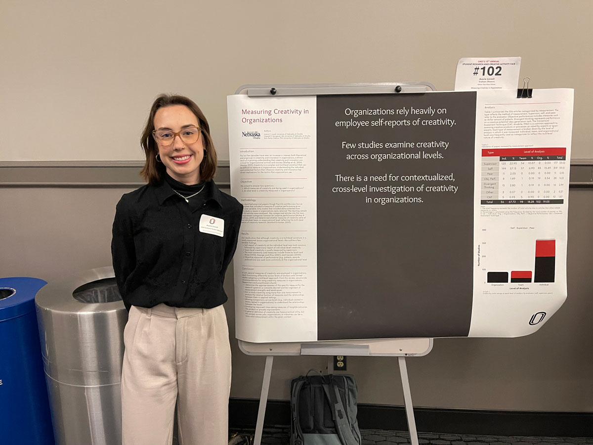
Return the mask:
<path id="1" fill-rule="evenodd" d="M 254 428 L 257 399 L 229 402 L 229 427 Z M 478 434 L 480 436 L 593 437 L 593 412 L 489 411 L 475 409 L 414 408 L 417 430 L 423 433 Z M 288 400 L 268 400 L 265 425 L 289 425 Z M 358 405 L 358 426 L 372 430 L 406 431 L 403 406 Z"/>

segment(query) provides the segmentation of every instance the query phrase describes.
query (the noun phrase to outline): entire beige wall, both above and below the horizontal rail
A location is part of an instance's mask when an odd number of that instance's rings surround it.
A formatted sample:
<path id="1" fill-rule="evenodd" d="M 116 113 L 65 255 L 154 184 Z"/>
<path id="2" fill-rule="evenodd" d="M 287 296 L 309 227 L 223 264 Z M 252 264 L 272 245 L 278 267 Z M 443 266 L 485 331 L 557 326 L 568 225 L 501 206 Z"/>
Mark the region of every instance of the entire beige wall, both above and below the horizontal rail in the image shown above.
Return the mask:
<path id="1" fill-rule="evenodd" d="M 575 88 L 573 158 L 593 158 L 593 2 L 17 2 L 0 5 L 0 161 L 136 160 L 161 92 L 196 99 L 228 160 L 226 96 L 243 84 L 429 81 L 468 56 L 522 56 L 535 88 Z M 67 180 L 67 178 L 65 178 Z M 0 188 L 0 276 L 48 281 L 109 265 L 123 189 Z M 417 406 L 593 411 L 593 191 L 572 189 L 569 296 L 534 335 L 436 339 L 408 361 Z M 227 304 L 233 330 L 232 274 Z M 270 398 L 321 357 L 276 357 Z M 360 402 L 402 404 L 396 358 L 349 358 Z M 259 397 L 264 358 L 234 344 L 232 396 Z"/>

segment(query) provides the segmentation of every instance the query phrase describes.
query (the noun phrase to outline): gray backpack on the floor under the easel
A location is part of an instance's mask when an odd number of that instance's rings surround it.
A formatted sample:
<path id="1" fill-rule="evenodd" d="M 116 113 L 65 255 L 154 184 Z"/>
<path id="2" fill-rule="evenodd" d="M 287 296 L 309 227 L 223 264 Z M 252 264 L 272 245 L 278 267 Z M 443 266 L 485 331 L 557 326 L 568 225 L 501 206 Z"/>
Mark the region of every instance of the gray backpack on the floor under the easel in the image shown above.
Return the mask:
<path id="1" fill-rule="evenodd" d="M 350 375 L 292 379 L 291 445 L 361 445 L 356 394 Z"/>

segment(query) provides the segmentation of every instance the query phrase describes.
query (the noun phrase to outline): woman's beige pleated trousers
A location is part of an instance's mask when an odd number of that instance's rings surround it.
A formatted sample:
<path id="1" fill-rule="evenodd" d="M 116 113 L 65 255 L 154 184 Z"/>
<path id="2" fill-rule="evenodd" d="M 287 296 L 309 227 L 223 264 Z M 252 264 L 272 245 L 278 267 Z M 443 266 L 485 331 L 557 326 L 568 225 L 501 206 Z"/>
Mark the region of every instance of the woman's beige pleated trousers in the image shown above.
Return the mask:
<path id="1" fill-rule="evenodd" d="M 132 306 L 123 333 L 122 444 L 228 442 L 231 347 L 224 307 Z"/>

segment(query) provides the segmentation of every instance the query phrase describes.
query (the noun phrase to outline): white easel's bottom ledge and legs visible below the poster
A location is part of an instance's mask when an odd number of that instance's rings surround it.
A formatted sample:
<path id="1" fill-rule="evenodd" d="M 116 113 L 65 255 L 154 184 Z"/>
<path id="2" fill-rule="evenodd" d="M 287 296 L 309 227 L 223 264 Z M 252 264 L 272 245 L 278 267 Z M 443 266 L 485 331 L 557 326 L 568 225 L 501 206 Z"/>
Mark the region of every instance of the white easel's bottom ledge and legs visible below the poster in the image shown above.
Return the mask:
<path id="1" fill-rule="evenodd" d="M 247 355 L 266 355 L 263 373 L 262 393 L 257 411 L 254 445 L 262 443 L 263 419 L 266 414 L 267 393 L 272 377 L 274 355 L 327 355 L 328 370 L 333 368 L 333 355 L 382 355 L 397 357 L 400 366 L 401 387 L 403 389 L 406 417 L 410 431 L 410 442 L 418 445 L 418 434 L 412 405 L 412 393 L 408 380 L 406 357 L 422 356 L 431 352 L 432 338 L 371 339 L 349 341 L 324 341 L 315 343 L 250 343 L 239 340 L 239 348 Z"/>

